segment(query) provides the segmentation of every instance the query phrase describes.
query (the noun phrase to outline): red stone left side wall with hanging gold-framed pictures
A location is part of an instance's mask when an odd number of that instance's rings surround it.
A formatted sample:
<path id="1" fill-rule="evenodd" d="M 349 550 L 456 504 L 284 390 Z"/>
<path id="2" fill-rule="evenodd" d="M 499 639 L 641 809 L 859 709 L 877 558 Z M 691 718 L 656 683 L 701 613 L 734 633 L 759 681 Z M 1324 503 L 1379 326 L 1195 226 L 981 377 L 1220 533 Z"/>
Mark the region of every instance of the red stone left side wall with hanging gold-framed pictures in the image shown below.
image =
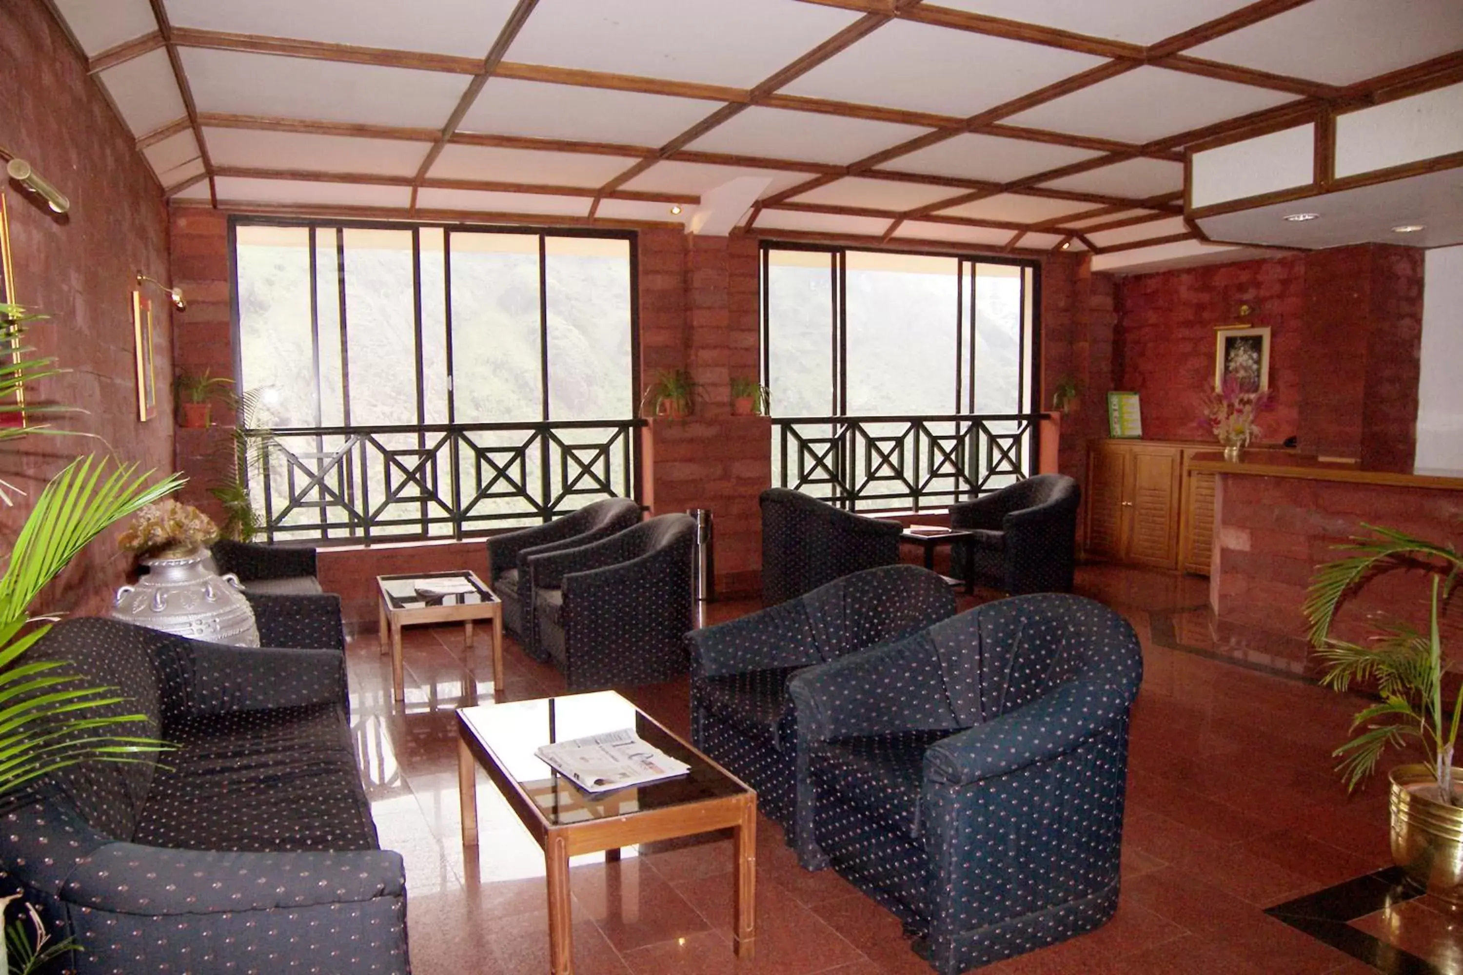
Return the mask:
<path id="1" fill-rule="evenodd" d="M 29 335 L 67 371 L 29 395 L 79 406 L 57 425 L 95 434 L 29 437 L 0 453 L 0 478 L 35 493 L 80 453 L 111 453 L 142 471 L 173 469 L 170 306 L 155 298 L 157 415 L 138 418 L 132 329 L 135 275 L 168 281 L 168 216 L 162 190 L 86 75 L 42 0 L 0 3 L 0 143 L 31 162 L 72 200 L 54 216 L 13 183 L 0 183 L 9 212 L 15 298 L 50 316 Z M 31 500 L 0 507 L 0 535 L 13 539 Z M 41 596 L 38 610 L 105 612 L 132 557 L 107 532 Z M 9 542 L 4 544 L 9 547 Z"/>

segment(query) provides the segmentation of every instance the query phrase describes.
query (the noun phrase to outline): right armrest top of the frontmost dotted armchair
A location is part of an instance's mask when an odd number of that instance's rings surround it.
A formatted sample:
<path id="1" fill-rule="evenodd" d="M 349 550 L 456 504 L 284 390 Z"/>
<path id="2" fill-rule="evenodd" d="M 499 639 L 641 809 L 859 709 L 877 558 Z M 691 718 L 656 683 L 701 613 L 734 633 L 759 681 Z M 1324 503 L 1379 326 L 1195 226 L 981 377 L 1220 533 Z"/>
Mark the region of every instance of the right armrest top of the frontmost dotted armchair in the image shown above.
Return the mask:
<path id="1" fill-rule="evenodd" d="M 974 785 L 1030 765 L 1050 762 L 1122 721 L 1128 696 L 1099 681 L 1069 681 L 1024 707 L 967 728 L 925 751 L 925 779 Z"/>

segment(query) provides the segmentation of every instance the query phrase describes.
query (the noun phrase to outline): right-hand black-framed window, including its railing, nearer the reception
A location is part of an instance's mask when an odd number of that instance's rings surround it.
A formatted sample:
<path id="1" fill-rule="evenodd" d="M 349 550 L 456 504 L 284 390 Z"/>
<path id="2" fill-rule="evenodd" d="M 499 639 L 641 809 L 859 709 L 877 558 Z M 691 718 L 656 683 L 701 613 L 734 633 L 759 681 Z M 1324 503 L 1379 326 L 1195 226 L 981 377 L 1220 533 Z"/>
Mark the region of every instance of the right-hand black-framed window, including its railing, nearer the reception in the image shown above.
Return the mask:
<path id="1" fill-rule="evenodd" d="M 1039 288 L 1030 260 L 764 243 L 772 482 L 920 510 L 1027 477 Z"/>

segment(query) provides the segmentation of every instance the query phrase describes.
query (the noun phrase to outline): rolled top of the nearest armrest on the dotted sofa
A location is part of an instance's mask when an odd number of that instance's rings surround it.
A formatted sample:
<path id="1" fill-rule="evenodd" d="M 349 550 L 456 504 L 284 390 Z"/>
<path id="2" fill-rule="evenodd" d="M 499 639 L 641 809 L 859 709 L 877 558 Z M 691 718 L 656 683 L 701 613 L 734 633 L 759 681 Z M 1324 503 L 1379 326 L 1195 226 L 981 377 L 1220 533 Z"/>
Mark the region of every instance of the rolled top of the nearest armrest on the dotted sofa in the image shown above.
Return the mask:
<path id="1" fill-rule="evenodd" d="M 92 911 L 183 915 L 399 898 L 405 886 L 401 854 L 392 851 L 236 854 L 108 843 L 76 864 L 60 896 Z"/>

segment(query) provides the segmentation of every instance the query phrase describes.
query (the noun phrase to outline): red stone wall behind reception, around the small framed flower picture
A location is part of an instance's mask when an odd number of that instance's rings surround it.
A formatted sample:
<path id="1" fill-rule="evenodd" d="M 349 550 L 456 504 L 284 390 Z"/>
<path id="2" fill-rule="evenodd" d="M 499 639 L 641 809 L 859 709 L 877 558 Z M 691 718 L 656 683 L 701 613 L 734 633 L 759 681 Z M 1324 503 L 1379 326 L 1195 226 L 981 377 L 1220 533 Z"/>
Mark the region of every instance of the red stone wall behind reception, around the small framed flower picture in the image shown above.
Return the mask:
<path id="1" fill-rule="evenodd" d="M 1118 285 L 1118 386 L 1140 393 L 1143 434 L 1153 440 L 1206 440 L 1203 396 L 1214 389 L 1214 327 L 1270 326 L 1274 408 L 1260 425 L 1264 443 L 1296 433 L 1302 398 L 1308 257 L 1246 260 L 1153 275 Z"/>

